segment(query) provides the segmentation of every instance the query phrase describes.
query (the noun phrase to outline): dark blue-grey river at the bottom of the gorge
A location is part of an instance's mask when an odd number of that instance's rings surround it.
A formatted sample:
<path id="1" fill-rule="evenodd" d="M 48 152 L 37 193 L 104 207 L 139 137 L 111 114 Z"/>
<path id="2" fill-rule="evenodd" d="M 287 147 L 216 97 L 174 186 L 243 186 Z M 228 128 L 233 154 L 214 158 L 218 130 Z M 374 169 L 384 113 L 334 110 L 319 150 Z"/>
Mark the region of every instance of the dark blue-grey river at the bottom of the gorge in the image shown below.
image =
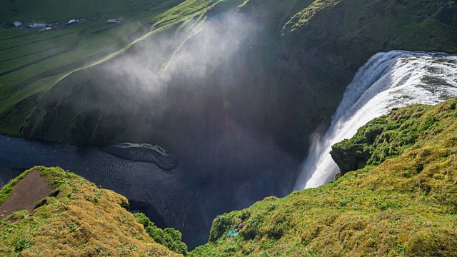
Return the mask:
<path id="1" fill-rule="evenodd" d="M 3 135 L 0 149 L 1 186 L 26 168 L 60 166 L 123 194 L 131 202 L 131 211 L 143 211 L 158 226 L 179 229 L 189 248 L 208 241 L 217 215 L 246 208 L 266 196 L 290 193 L 294 180 L 287 174 L 296 173 L 299 166 L 270 148 L 259 150 L 248 161 L 230 154 L 215 161 L 180 156 L 179 166 L 171 171 L 154 163 L 122 159 L 99 148 Z M 216 175 L 201 176 L 202 170 Z"/>

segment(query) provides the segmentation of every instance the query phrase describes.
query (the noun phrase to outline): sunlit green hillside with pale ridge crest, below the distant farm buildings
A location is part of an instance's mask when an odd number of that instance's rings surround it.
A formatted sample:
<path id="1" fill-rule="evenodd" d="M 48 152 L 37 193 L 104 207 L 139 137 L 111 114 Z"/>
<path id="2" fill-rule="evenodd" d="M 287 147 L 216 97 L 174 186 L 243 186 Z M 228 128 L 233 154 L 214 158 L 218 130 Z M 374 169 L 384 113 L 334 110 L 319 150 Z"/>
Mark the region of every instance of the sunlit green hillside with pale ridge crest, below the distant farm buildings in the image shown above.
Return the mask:
<path id="1" fill-rule="evenodd" d="M 149 11 L 126 16 L 127 20 L 119 25 L 108 26 L 106 19 L 96 19 L 71 26 L 68 29 L 28 34 L 0 41 L 1 47 L 18 46 L 0 51 L 0 61 L 11 59 L 0 63 L 0 72 L 21 68 L 0 76 L 0 96 L 2 96 L 0 116 L 4 117 L 2 133 L 18 135 L 19 128 L 30 115 L 21 112 L 21 114 L 15 114 L 16 117 L 12 119 L 5 118 L 7 114 L 11 116 L 14 108 L 21 101 L 36 93 L 48 91 L 76 71 L 103 64 L 124 54 L 131 46 L 144 39 L 167 29 L 179 29 L 179 24 L 184 24 L 211 9 L 212 2 L 189 0 L 180 4 L 181 1 L 164 1 L 163 4 L 149 9 Z M 136 31 L 139 31 L 139 34 L 136 34 L 139 38 L 131 38 L 130 36 Z M 54 36 L 69 32 L 73 32 L 73 34 L 54 38 Z M 9 34 L 9 31 L 1 33 Z M 2 37 L 8 38 L 9 36 L 11 34 Z M 40 42 L 27 44 L 33 41 Z M 49 49 L 49 46 L 58 48 L 43 51 Z M 38 51 L 41 52 L 36 53 Z M 51 54 L 56 54 L 56 56 L 46 59 Z M 86 60 L 89 56 L 96 54 L 99 54 L 100 57 L 91 61 Z M 31 65 L 27 66 L 27 64 Z M 34 109 L 34 106 L 28 106 L 28 108 Z"/>

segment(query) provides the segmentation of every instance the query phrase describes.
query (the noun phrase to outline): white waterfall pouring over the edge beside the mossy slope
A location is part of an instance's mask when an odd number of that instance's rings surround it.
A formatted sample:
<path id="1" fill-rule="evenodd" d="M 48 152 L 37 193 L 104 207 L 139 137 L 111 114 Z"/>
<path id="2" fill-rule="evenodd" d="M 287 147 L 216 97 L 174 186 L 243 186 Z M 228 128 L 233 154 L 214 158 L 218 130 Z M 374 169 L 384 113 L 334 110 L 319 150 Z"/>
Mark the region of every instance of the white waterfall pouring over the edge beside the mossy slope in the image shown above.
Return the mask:
<path id="1" fill-rule="evenodd" d="M 331 146 L 354 136 L 361 126 L 411 104 L 438 104 L 457 96 L 457 56 L 390 51 L 379 53 L 358 71 L 325 133 L 311 136 L 296 190 L 321 186 L 338 173 Z"/>

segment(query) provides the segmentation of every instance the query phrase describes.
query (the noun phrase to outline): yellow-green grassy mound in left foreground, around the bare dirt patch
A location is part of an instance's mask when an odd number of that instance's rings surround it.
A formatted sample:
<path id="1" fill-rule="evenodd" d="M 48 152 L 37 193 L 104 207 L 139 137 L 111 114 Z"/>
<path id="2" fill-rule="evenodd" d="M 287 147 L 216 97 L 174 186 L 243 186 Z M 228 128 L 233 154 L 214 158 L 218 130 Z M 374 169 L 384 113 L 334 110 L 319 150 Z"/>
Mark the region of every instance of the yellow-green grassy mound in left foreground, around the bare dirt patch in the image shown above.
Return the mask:
<path id="1" fill-rule="evenodd" d="M 173 251 L 186 254 L 181 233 L 169 228 L 161 230 L 141 213 L 129 213 L 124 196 L 98 188 L 61 168 L 35 167 L 25 171 L 1 189 L 0 205 L 13 193 L 14 185 L 36 169 L 54 191 L 38 201 L 33 212 L 16 211 L 2 217 L 1 256 L 179 256 Z"/>

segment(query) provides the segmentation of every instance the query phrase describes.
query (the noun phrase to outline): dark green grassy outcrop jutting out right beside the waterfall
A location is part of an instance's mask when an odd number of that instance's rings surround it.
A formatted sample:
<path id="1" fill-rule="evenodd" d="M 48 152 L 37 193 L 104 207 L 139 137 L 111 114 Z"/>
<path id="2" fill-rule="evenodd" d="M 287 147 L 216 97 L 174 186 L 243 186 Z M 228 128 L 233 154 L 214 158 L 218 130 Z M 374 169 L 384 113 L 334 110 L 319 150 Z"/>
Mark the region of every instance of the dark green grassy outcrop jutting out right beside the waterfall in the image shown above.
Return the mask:
<path id="1" fill-rule="evenodd" d="M 427 136 L 423 131 L 433 129 L 435 118 L 426 121 L 416 119 L 431 106 L 417 105 L 410 109 L 392 111 L 370 121 L 355 136 L 336 143 L 331 155 L 342 173 L 363 168 L 366 164 L 377 165 L 388 158 L 395 158 L 411 149 L 418 140 Z"/>

